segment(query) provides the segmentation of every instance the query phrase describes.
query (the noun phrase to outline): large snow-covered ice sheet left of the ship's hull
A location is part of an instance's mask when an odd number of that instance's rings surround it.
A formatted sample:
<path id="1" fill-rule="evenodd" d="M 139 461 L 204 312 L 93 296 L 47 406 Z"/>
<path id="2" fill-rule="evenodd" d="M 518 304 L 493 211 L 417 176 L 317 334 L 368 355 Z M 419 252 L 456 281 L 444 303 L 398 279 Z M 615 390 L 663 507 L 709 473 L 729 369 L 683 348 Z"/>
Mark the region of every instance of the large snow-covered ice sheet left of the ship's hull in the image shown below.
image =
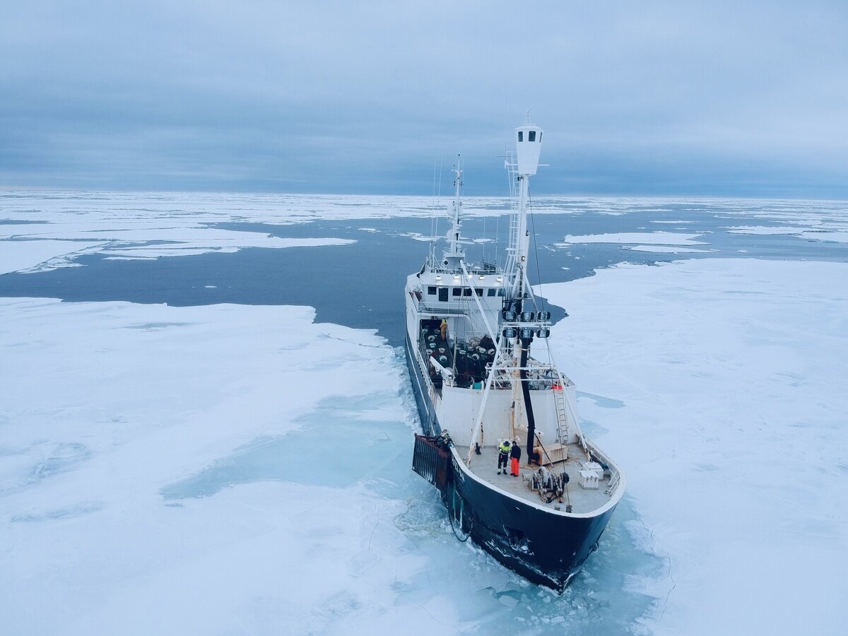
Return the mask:
<path id="1" fill-rule="evenodd" d="M 382 338 L 303 307 L 0 298 L 0 313 L 5 633 L 403 622 L 409 607 L 385 593 L 422 566 L 393 523 L 404 505 L 315 476 L 343 455 L 362 478 L 391 478 L 382 465 L 398 458 L 370 449 L 410 430 Z M 360 429 L 347 444 L 285 443 L 342 405 Z M 163 494 L 269 439 L 283 440 L 276 476 Z"/>

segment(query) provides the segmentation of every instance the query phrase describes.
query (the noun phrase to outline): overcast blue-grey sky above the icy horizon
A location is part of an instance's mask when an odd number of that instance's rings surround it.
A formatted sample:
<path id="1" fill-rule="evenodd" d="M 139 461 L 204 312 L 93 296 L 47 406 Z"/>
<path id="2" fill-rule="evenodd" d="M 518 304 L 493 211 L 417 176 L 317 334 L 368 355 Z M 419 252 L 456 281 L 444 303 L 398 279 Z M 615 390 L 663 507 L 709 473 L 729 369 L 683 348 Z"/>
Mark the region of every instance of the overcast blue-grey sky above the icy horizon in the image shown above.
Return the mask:
<path id="1" fill-rule="evenodd" d="M 848 3 L 3 3 L 0 188 L 848 199 Z"/>

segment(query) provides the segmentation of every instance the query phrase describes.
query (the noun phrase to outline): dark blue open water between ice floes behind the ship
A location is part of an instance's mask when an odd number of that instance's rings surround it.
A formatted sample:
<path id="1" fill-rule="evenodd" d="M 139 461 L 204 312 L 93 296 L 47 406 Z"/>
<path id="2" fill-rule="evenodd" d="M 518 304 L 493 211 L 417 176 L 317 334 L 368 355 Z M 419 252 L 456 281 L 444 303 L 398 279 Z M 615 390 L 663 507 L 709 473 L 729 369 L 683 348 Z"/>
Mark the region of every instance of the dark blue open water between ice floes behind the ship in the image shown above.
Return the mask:
<path id="1" fill-rule="evenodd" d="M 656 223 L 655 220 L 679 220 Z M 844 243 L 810 241 L 789 235 L 745 235 L 727 232 L 728 226 L 781 226 L 777 221 L 750 215 L 715 214 L 678 205 L 669 209 L 636 210 L 618 215 L 594 211 L 536 214 L 530 228 L 531 282 L 562 282 L 592 276 L 597 268 L 616 263 L 651 264 L 702 258 L 848 260 Z M 347 246 L 317 248 L 246 248 L 235 254 L 200 254 L 156 260 L 104 259 L 86 255 L 76 259 L 84 267 L 66 267 L 29 274 L 0 276 L 0 296 L 61 298 L 69 301 L 126 300 L 133 303 L 302 304 L 315 307 L 316 320 L 377 329 L 389 343 L 403 339 L 402 289 L 406 276 L 421 268 L 432 221 L 392 218 L 321 221 L 287 226 L 222 223 L 221 229 L 262 232 L 277 237 L 337 237 L 354 239 Z M 367 228 L 367 229 L 364 229 Z M 447 231 L 442 220 L 439 235 Z M 469 248 L 469 259 L 496 260 L 505 248 L 505 216 L 469 218 L 466 237 L 488 238 Z M 633 251 L 609 243 L 556 246 L 566 234 L 619 232 L 698 233 L 693 248 L 706 253 L 666 254 Z M 498 243 L 494 243 L 494 239 Z M 443 248 L 444 242 L 437 245 Z M 544 295 L 544 287 L 543 287 Z M 561 315 L 561 313 L 559 313 Z M 558 316 L 555 316 L 558 317 Z"/>

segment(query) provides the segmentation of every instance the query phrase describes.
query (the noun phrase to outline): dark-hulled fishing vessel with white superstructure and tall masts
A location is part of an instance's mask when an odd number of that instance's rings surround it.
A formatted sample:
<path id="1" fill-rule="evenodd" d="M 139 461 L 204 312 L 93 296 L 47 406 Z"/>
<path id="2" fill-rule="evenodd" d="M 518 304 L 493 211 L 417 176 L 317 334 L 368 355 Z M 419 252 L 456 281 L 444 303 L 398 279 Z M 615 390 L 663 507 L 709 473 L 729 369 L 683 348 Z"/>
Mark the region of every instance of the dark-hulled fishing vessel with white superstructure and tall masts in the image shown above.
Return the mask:
<path id="1" fill-rule="evenodd" d="M 457 538 L 561 592 L 597 549 L 626 477 L 583 435 L 574 383 L 547 346 L 550 311 L 527 275 L 529 181 L 543 132 L 527 119 L 506 154 L 512 196 L 500 263 L 466 259 L 456 166 L 444 252 L 431 243 L 407 279 L 406 359 L 423 429 L 412 467 L 440 491 Z M 501 451 L 516 455 L 513 446 L 521 459 L 508 458 L 507 470 Z"/>

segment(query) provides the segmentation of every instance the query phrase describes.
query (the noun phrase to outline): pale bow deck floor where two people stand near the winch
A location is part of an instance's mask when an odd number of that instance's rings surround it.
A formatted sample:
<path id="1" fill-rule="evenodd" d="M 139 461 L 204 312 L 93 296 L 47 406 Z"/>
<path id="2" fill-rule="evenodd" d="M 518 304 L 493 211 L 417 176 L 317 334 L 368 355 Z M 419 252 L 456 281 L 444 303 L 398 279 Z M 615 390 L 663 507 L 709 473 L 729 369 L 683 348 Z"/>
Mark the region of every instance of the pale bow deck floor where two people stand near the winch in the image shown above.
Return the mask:
<path id="1" fill-rule="evenodd" d="M 456 446 L 455 448 L 460 457 L 465 460 L 468 455 L 468 447 Z M 527 455 L 527 451 L 526 449 L 522 449 L 522 451 L 522 464 L 518 477 L 512 477 L 509 471 L 506 474 L 498 474 L 498 451 L 492 446 L 480 449 L 480 455 L 471 455 L 471 472 L 477 477 L 491 483 L 494 487 L 504 490 L 506 493 L 555 510 L 566 510 L 566 505 L 570 503 L 572 505 L 572 512 L 588 513 L 598 510 L 610 501 L 612 493 L 606 494 L 610 490 L 610 471 L 605 471 L 604 478 L 599 483 L 599 488 L 583 488 L 580 485 L 580 470 L 583 467 L 583 462 L 587 461 L 587 459 L 586 454 L 579 445 L 568 445 L 567 460 L 557 461 L 554 464 L 545 466 L 555 474 L 566 471 L 570 477 L 566 491 L 567 498 L 566 494 L 563 494 L 562 501 L 554 499 L 550 503 L 546 503 L 541 499 L 538 491 L 532 490 L 527 480 L 525 480 L 525 476 L 529 477 L 533 472 L 538 471 L 538 466 L 528 466 L 523 457 Z"/>

